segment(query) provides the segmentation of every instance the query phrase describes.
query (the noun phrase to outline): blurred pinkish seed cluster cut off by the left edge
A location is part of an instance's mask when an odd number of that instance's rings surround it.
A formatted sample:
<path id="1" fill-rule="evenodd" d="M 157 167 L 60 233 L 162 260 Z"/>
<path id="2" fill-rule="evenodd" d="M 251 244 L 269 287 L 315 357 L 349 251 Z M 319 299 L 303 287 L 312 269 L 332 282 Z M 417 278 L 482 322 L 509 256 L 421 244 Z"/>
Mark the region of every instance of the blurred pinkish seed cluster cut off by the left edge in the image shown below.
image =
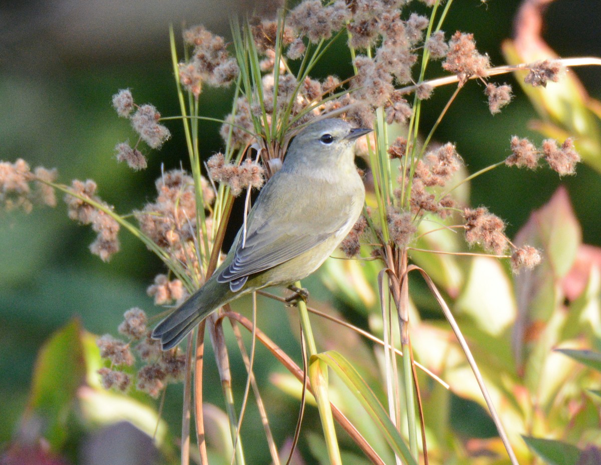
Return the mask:
<path id="1" fill-rule="evenodd" d="M 14 163 L 0 161 L 0 205 L 7 210 L 30 212 L 35 202 L 56 206 L 54 189 L 46 182 L 56 180 L 56 169 L 38 166 L 31 172 L 29 164 L 19 158 Z"/>

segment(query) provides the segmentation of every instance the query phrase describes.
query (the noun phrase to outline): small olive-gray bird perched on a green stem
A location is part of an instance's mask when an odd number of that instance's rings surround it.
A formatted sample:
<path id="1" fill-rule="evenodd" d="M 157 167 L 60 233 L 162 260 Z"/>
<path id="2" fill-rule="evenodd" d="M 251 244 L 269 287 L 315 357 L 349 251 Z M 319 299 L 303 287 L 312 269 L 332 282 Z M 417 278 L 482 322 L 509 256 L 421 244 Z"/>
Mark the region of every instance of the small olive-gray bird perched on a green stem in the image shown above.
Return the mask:
<path id="1" fill-rule="evenodd" d="M 355 167 L 355 142 L 370 131 L 325 119 L 294 137 L 282 168 L 248 215 L 246 236 L 240 229 L 212 277 L 154 328 L 163 350 L 233 299 L 289 286 L 322 265 L 361 214 L 365 188 Z"/>

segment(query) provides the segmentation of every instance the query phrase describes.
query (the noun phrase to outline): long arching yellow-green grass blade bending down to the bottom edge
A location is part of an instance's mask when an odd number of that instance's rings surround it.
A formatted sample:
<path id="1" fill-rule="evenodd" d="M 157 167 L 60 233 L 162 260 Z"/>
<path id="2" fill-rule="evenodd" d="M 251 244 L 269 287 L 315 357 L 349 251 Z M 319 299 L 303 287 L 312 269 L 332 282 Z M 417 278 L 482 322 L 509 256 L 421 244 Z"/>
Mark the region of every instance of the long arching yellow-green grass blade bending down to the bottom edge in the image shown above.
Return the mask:
<path id="1" fill-rule="evenodd" d="M 401 434 L 389 418 L 388 413 L 355 368 L 340 353 L 335 352 L 335 350 L 319 353 L 315 357 L 328 364 L 338 374 L 347 388 L 350 389 L 350 392 L 355 395 L 363 408 L 369 413 L 376 427 L 396 454 L 403 458 L 408 465 L 416 465 L 415 458 L 412 457 L 409 448 L 407 448 Z"/>

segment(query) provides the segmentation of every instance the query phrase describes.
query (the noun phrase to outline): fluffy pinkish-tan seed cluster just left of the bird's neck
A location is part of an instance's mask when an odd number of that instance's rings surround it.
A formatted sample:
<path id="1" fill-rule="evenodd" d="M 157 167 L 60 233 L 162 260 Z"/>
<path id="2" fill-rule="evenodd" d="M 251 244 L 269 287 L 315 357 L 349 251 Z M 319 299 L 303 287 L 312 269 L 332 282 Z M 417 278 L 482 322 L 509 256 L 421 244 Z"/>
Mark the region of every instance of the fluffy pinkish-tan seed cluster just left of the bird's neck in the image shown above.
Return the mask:
<path id="1" fill-rule="evenodd" d="M 238 196 L 245 188 L 261 188 L 265 170 L 256 161 L 246 159 L 240 165 L 225 163 L 222 153 L 213 155 L 207 161 L 209 176 L 230 187 L 233 196 Z"/>

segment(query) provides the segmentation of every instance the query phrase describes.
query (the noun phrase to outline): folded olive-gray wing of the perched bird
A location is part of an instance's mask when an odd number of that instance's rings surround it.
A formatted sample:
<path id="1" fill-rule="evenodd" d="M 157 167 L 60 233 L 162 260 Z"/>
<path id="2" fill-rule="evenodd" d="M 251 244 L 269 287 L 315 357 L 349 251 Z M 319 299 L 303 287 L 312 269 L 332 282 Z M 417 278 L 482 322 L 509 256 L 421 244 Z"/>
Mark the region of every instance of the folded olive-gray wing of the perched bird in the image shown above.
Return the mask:
<path id="1" fill-rule="evenodd" d="M 311 250 L 340 233 L 349 221 L 346 212 L 326 209 L 328 196 L 337 194 L 329 183 L 314 186 L 317 192 L 313 194 L 308 194 L 304 185 L 305 191 L 301 193 L 283 179 L 286 173 L 278 172 L 277 175 L 281 176 L 279 182 L 268 183 L 261 191 L 246 224 L 244 243 L 240 235 L 230 266 L 217 278 L 221 283 L 230 282 L 234 291 L 242 288 L 248 275 L 273 268 Z M 290 208 L 273 214 L 274 201 L 277 205 L 290 205 Z M 349 207 L 344 205 L 343 210 Z"/>

